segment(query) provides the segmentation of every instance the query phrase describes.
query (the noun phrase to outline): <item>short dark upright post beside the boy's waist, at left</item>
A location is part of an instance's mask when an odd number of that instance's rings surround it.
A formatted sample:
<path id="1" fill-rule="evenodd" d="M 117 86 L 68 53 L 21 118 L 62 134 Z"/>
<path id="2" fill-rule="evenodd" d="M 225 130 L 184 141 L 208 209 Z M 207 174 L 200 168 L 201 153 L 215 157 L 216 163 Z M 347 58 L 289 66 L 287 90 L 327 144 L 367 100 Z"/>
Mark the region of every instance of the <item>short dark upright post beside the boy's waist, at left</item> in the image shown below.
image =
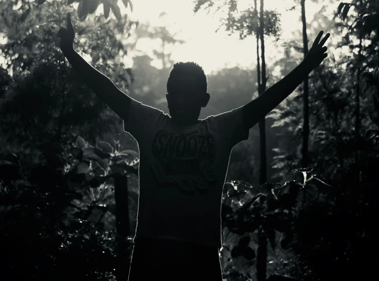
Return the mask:
<path id="1" fill-rule="evenodd" d="M 129 251 L 127 238 L 129 229 L 128 178 L 114 177 L 114 198 L 116 204 L 116 280 L 125 281 L 129 276 Z"/>

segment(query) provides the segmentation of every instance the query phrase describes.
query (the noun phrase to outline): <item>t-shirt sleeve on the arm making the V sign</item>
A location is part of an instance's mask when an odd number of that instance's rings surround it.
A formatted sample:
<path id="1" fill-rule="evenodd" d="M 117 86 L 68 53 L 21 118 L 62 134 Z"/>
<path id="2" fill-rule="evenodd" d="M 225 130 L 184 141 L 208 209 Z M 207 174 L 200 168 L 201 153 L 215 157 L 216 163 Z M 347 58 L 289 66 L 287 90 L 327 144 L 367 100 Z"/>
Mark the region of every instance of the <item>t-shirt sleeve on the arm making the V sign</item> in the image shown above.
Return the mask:
<path id="1" fill-rule="evenodd" d="M 249 130 L 244 129 L 243 107 L 212 116 L 217 131 L 228 142 L 231 148 L 243 140 L 249 138 Z"/>

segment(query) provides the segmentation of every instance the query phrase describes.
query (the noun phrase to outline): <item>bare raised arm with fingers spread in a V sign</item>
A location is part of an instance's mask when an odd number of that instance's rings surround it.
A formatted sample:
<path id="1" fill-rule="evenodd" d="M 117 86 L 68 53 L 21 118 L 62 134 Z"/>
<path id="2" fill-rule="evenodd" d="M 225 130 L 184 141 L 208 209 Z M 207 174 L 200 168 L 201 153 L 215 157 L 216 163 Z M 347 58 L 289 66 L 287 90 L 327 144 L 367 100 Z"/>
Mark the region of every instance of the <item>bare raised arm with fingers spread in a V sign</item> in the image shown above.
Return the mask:
<path id="1" fill-rule="evenodd" d="M 282 80 L 268 88 L 262 95 L 250 101 L 243 107 L 243 120 L 246 130 L 254 126 L 260 119 L 264 118 L 271 110 L 288 97 L 300 83 L 309 75 L 313 69 L 321 64 L 327 57 L 326 46 L 323 47 L 330 33 L 320 41 L 323 31 L 321 31 L 304 60 L 295 67 Z"/>

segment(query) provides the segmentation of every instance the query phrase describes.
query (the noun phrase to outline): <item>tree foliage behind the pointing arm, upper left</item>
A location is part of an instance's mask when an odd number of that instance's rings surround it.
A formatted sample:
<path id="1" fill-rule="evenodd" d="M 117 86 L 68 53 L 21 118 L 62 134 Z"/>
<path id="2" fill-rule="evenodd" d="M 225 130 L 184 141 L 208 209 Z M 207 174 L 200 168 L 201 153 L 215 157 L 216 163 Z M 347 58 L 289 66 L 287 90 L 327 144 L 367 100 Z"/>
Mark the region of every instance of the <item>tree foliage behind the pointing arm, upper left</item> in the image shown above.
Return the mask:
<path id="1" fill-rule="evenodd" d="M 0 52 L 6 60 L 7 75 L 12 75 L 0 96 L 5 117 L 1 130 L 11 149 L 27 147 L 33 151 L 33 146 L 46 139 L 79 132 L 94 139 L 114 132 L 120 125 L 119 117 L 66 65 L 59 46 L 52 42 L 62 24 L 60 15 L 66 14 L 67 8 L 58 1 L 43 5 L 43 9 L 30 8 L 21 21 L 25 6 L 13 9 L 12 2 L 0 2 L 0 21 L 5 23 L 1 29 L 7 39 L 0 45 Z M 115 20 L 102 23 L 99 19 L 96 16 L 94 20 L 77 23 L 78 53 L 89 54 L 94 67 L 108 75 L 117 87 L 127 90 L 133 76 L 120 59 L 127 48 L 121 39 L 128 36 L 124 32 L 130 31 L 134 22 L 125 18 L 124 27 L 116 28 Z M 119 35 L 120 40 L 115 40 Z M 90 123 L 97 125 L 88 126 Z"/>

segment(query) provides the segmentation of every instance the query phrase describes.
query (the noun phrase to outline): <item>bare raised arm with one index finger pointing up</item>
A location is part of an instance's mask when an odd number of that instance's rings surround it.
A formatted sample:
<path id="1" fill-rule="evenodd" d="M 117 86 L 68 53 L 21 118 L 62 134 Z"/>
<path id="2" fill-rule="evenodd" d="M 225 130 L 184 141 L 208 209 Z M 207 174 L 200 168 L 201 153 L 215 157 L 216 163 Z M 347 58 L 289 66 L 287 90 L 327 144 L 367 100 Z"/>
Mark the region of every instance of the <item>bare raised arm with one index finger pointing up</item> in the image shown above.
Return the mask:
<path id="1" fill-rule="evenodd" d="M 68 62 L 78 72 L 84 83 L 98 96 L 111 110 L 127 121 L 129 115 L 130 97 L 117 88 L 113 82 L 100 71 L 88 64 L 75 50 L 75 31 L 71 22 L 70 13 L 67 14 L 67 29 L 58 31 L 60 49 Z"/>

